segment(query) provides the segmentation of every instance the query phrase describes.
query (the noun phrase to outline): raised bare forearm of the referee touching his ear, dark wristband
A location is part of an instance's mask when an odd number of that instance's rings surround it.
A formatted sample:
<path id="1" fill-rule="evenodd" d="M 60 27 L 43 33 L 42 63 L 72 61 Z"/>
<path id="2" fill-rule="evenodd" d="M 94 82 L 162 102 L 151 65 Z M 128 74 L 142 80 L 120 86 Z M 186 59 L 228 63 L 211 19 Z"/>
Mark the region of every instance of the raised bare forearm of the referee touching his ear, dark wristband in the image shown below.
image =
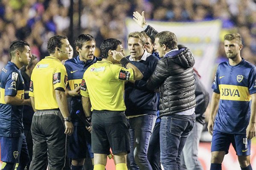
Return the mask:
<path id="1" fill-rule="evenodd" d="M 134 80 L 140 80 L 143 78 L 143 74 L 140 72 L 140 70 L 127 58 L 124 57 L 124 55 L 121 52 L 117 52 L 115 50 L 111 51 L 113 53 L 113 58 L 118 61 L 120 64 L 122 64 L 125 68 L 132 68 L 134 71 Z"/>

